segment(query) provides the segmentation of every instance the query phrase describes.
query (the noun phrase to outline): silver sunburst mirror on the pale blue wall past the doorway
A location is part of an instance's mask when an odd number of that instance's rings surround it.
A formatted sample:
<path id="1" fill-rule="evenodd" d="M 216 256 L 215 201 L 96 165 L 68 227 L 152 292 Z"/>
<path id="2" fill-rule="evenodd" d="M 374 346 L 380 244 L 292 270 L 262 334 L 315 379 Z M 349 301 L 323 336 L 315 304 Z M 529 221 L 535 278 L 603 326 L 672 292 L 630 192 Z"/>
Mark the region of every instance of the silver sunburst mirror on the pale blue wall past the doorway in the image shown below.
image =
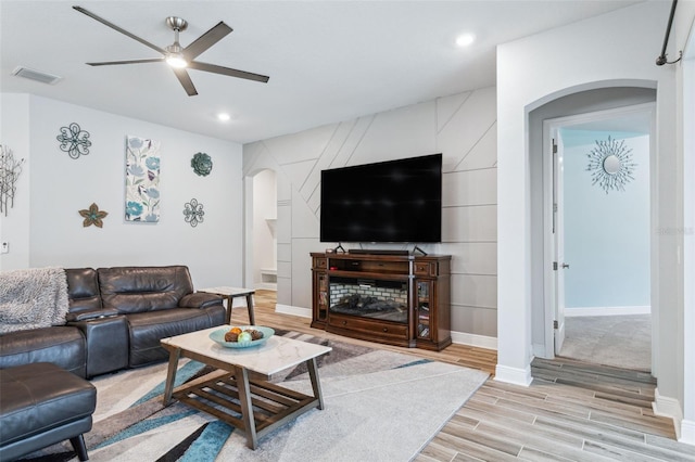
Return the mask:
<path id="1" fill-rule="evenodd" d="M 606 191 L 624 191 L 624 185 L 634 180 L 632 174 L 637 166 L 632 162 L 631 149 L 626 146 L 624 140 L 596 140 L 596 146 L 586 156 L 591 171 L 592 185 L 598 183 Z"/>

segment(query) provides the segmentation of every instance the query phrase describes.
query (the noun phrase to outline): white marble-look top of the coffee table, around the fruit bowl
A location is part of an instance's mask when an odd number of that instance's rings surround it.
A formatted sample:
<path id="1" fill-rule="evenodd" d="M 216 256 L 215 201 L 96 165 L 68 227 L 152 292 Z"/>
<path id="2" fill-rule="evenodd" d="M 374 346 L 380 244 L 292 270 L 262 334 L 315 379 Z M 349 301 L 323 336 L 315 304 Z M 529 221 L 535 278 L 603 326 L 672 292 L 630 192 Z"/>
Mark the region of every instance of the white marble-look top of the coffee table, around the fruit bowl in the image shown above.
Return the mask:
<path id="1" fill-rule="evenodd" d="M 231 328 L 229 325 L 218 325 L 203 331 L 163 338 L 162 344 L 180 348 L 184 351 L 195 352 L 229 364 L 241 365 L 250 371 L 268 376 L 332 350 L 331 347 L 309 344 L 279 335 L 271 336 L 261 346 L 226 348 L 210 338 L 210 334 L 219 329 L 227 330 Z"/>

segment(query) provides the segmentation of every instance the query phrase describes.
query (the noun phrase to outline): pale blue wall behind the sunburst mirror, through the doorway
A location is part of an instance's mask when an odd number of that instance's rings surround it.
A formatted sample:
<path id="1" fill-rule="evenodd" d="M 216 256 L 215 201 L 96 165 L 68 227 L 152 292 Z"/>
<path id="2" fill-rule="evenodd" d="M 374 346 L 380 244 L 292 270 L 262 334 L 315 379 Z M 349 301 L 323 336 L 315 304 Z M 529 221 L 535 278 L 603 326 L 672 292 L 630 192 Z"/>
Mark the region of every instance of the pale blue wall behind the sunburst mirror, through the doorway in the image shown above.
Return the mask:
<path id="1" fill-rule="evenodd" d="M 560 133 L 565 261 L 571 265 L 565 271 L 565 315 L 649 312 L 649 137 L 572 128 Z M 586 169 L 595 140 L 608 137 L 624 142 L 636 164 L 624 190 L 604 191 Z"/>

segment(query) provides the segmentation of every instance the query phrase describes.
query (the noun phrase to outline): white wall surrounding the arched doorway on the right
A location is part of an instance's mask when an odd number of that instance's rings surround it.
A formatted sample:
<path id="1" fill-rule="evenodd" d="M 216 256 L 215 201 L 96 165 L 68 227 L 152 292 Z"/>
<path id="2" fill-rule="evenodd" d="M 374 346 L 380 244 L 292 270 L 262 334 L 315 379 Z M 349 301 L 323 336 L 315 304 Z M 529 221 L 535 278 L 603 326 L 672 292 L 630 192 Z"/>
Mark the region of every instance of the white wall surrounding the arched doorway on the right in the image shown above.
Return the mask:
<path id="1" fill-rule="evenodd" d="M 673 69 L 654 62 L 664 39 L 670 2 L 645 2 L 498 47 L 498 365 L 497 380 L 529 383 L 531 269 L 528 113 L 547 101 L 590 88 L 654 86 L 657 89 L 657 184 L 653 224 L 678 227 Z M 630 25 L 618 27 L 618 25 Z M 533 63 L 530 65 L 529 63 Z M 653 228 L 654 229 L 654 228 Z M 659 390 L 679 395 L 679 264 L 675 240 L 653 236 L 652 306 Z"/>

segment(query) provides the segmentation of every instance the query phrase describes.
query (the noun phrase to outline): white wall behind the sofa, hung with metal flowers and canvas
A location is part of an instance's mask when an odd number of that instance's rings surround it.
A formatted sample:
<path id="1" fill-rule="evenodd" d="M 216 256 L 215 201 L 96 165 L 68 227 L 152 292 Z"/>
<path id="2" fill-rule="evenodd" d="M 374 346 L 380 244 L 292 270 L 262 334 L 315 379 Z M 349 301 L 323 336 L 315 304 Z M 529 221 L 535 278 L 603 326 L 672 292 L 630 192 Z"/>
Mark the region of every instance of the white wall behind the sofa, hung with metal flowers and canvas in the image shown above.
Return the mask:
<path id="1" fill-rule="evenodd" d="M 12 241 L 11 253 L 0 257 L 2 269 L 187 265 L 197 287 L 241 285 L 241 145 L 38 97 L 3 94 L 2 103 L 3 113 L 26 114 L 20 124 L 3 117 L 2 133 L 15 145 L 15 156 L 30 159 L 29 188 L 18 191 L 22 202 L 11 210 L 12 221 L 3 220 L 3 239 L 7 233 Z M 71 123 L 92 142 L 89 154 L 77 159 L 55 139 Z M 126 136 L 162 143 L 157 223 L 124 219 Z M 207 177 L 190 166 L 198 152 L 213 159 Z M 205 210 L 197 228 L 182 214 L 193 197 Z M 92 202 L 109 213 L 102 229 L 83 227 L 78 210 Z M 11 259 L 15 248 L 27 248 L 28 258 Z"/>

